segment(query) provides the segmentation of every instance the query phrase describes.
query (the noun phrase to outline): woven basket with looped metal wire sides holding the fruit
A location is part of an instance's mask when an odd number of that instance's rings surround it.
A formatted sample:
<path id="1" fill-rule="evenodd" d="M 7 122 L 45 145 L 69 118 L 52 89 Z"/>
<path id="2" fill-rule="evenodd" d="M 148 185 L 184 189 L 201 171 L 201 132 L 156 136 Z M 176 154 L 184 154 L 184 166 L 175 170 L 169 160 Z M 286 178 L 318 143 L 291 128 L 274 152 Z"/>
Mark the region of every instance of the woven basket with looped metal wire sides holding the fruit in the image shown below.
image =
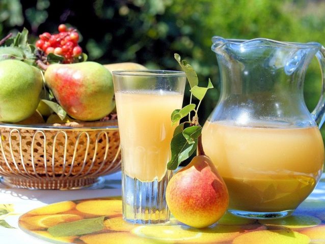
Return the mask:
<path id="1" fill-rule="evenodd" d="M 0 175 L 11 187 L 74 189 L 121 169 L 117 120 L 76 126 L 0 124 Z"/>

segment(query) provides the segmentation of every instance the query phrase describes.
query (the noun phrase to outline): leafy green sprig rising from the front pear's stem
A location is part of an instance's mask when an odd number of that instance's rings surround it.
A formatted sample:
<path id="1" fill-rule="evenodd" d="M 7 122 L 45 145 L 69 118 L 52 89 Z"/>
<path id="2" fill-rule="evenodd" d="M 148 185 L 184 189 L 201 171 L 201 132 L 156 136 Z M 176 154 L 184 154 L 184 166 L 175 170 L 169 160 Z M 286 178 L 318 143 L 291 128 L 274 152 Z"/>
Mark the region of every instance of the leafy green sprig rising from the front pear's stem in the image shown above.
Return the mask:
<path id="1" fill-rule="evenodd" d="M 175 53 L 175 59 L 185 72 L 191 89 L 191 98 L 188 105 L 182 109 L 176 109 L 171 115 L 172 125 L 177 124 L 182 118 L 188 115 L 188 121 L 180 123 L 175 131 L 171 141 L 172 158 L 167 164 L 167 169 L 175 170 L 181 162 L 191 157 L 196 149 L 199 155 L 205 155 L 202 146 L 202 126 L 199 124 L 198 109 L 208 89 L 213 88 L 211 80 L 208 80 L 207 87 L 198 86 L 198 76 L 193 67 L 185 60 L 181 60 L 180 55 Z M 199 100 L 198 105 L 192 103 L 192 98 L 195 97 Z M 195 115 L 191 119 L 191 112 Z M 187 127 L 185 128 L 185 125 Z"/>

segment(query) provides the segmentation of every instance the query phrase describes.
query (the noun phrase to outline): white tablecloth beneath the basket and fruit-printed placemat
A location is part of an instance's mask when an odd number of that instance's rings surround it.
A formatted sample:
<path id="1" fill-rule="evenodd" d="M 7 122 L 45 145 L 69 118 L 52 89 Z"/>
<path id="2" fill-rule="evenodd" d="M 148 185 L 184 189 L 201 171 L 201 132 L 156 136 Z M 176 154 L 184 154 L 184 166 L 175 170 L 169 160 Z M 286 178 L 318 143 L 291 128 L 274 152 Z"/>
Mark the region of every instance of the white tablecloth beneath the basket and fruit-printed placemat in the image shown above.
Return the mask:
<path id="1" fill-rule="evenodd" d="M 2 214 L 0 211 L 0 243 L 50 243 L 37 239 L 19 229 L 18 218 L 27 211 L 55 202 L 120 195 L 121 172 L 102 177 L 102 182 L 96 187 L 79 190 L 13 189 L 0 183 L 0 210 L 8 206 L 11 208 L 9 214 Z M 325 174 L 307 199 L 325 200 Z M 7 228 L 9 227 L 6 227 L 7 224 L 13 228 Z M 322 241 L 319 243 L 325 243 L 325 239 Z"/>

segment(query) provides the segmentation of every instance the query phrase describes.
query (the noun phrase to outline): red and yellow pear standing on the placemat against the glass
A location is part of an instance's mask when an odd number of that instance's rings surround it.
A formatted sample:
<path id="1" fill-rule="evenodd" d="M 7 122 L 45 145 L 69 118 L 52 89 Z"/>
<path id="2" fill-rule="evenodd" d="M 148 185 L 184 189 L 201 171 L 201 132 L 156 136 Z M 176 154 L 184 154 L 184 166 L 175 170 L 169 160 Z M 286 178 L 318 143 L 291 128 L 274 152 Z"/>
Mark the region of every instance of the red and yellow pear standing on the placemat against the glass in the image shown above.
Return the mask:
<path id="1" fill-rule="evenodd" d="M 229 195 L 210 158 L 200 155 L 171 178 L 166 189 L 166 201 L 177 220 L 195 228 L 204 228 L 224 215 Z"/>

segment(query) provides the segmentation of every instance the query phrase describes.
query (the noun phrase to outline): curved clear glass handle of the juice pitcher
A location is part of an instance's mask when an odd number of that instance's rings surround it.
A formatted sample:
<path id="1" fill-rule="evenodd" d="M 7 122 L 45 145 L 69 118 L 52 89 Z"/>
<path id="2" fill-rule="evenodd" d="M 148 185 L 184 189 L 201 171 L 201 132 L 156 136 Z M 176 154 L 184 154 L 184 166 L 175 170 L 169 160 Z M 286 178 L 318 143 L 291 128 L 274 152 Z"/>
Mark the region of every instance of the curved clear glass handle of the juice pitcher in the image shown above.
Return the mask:
<path id="1" fill-rule="evenodd" d="M 325 48 L 323 46 L 321 46 L 320 50 L 316 53 L 316 57 L 321 70 L 322 86 L 319 101 L 315 109 L 311 112 L 311 116 L 320 129 L 325 121 Z"/>

